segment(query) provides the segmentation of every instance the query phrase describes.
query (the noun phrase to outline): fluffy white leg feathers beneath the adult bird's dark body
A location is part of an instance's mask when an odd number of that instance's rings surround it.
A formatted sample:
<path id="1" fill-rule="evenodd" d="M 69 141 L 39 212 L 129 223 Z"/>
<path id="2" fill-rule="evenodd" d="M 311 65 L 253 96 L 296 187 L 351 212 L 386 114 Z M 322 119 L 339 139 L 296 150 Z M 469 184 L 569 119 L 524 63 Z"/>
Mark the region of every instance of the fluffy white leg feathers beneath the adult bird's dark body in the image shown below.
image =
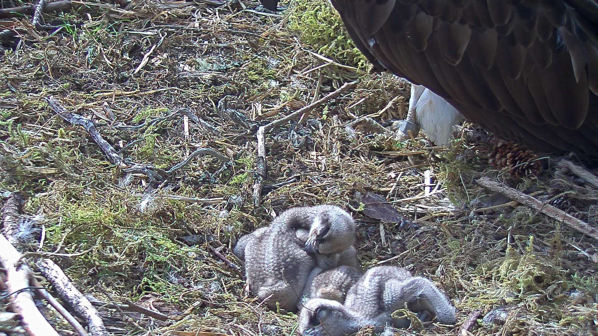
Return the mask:
<path id="1" fill-rule="evenodd" d="M 449 143 L 453 127 L 462 119 L 459 111 L 428 88 L 417 99 L 415 111 L 423 132 L 437 145 Z"/>

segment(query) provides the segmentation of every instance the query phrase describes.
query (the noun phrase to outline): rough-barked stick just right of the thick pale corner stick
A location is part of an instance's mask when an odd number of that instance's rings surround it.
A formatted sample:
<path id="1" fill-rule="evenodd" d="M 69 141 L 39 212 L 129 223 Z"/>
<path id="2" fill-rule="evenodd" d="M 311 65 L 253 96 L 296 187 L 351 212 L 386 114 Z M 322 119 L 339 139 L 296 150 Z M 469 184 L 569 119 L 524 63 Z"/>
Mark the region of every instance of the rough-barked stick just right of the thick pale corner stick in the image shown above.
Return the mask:
<path id="1" fill-rule="evenodd" d="M 87 323 L 87 328 L 89 328 L 89 333 L 92 336 L 108 336 L 108 331 L 106 331 L 106 327 L 96 308 L 75 288 L 71 280 L 66 277 L 66 274 L 58 265 L 54 264 L 50 259 L 39 259 L 35 262 L 35 265 L 39 268 L 45 279 L 54 286 L 60 299 L 71 305 L 77 316 Z"/>

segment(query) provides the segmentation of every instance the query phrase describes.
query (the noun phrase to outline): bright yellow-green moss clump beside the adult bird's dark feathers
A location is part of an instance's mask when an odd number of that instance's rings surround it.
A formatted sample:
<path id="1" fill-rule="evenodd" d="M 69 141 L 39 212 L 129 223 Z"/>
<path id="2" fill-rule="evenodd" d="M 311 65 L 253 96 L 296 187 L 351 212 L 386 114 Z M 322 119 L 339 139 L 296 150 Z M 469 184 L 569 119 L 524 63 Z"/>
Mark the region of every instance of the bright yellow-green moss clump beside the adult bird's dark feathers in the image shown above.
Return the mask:
<path id="1" fill-rule="evenodd" d="M 359 69 L 370 66 L 349 38 L 338 12 L 329 1 L 295 1 L 288 28 L 297 32 L 301 41 L 319 54 Z"/>

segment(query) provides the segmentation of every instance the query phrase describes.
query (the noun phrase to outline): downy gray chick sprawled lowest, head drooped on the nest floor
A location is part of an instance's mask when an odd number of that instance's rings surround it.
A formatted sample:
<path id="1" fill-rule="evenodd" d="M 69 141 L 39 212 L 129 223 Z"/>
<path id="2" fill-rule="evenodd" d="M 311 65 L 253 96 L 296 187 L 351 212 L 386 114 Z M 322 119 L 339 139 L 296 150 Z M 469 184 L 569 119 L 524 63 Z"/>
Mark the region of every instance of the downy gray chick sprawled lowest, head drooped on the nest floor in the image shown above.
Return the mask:
<path id="1" fill-rule="evenodd" d="M 374 325 L 377 331 L 385 325 L 404 328 L 409 320 L 393 319 L 391 314 L 405 303 L 420 319 L 455 322 L 454 307 L 430 280 L 412 277 L 404 268 L 379 266 L 349 289 L 344 305 L 322 298 L 308 301 L 299 316 L 299 331 L 303 336 L 341 336 L 365 325 Z"/>

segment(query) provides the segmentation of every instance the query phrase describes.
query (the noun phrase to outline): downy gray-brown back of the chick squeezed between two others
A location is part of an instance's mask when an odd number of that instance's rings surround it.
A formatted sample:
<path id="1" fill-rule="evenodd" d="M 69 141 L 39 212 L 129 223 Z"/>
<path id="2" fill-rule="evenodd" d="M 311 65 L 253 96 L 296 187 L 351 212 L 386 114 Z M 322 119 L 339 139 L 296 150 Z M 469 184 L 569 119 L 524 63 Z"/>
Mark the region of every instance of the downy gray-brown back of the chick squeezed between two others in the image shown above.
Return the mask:
<path id="1" fill-rule="evenodd" d="M 303 295 L 297 304 L 299 310 L 303 305 L 314 298 L 323 298 L 344 303 L 349 289 L 355 285 L 362 275 L 356 267 L 340 265 L 327 271 L 315 267 L 307 278 Z"/>

